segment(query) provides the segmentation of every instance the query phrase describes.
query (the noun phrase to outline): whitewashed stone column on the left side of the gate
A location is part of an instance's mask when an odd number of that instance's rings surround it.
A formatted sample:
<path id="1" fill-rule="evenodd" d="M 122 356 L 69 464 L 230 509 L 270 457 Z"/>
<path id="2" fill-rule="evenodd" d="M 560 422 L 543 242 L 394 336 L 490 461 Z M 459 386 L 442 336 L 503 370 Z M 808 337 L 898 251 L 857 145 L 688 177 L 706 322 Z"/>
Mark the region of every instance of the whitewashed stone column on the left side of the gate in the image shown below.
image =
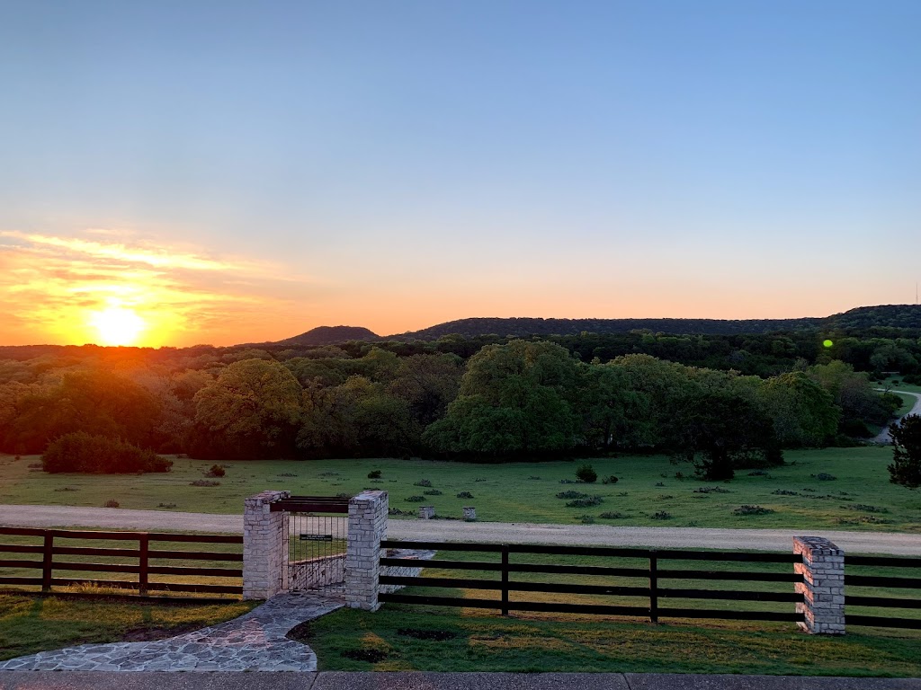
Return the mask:
<path id="1" fill-rule="evenodd" d="M 288 513 L 271 512 L 290 491 L 262 491 L 243 500 L 243 598 L 268 599 L 287 591 Z"/>

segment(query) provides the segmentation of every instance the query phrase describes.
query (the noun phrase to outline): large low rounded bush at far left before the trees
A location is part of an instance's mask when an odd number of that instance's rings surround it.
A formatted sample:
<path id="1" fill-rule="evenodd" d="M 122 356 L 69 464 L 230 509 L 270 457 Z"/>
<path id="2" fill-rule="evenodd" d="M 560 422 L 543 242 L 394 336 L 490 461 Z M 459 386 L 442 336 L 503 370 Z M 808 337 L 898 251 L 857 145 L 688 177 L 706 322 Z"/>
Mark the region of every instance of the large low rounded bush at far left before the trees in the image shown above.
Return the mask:
<path id="1" fill-rule="evenodd" d="M 75 431 L 66 433 L 48 444 L 48 450 L 41 456 L 41 466 L 45 472 L 51 473 L 88 472 L 113 475 L 169 472 L 172 460 L 120 439 Z"/>

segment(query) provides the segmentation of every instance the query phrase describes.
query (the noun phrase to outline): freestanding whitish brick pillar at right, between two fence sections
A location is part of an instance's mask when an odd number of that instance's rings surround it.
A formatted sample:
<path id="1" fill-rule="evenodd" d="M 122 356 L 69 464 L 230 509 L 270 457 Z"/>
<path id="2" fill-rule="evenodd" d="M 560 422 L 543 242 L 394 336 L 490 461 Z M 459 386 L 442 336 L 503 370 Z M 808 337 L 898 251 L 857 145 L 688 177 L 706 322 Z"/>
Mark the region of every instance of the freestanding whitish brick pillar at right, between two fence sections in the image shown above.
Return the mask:
<path id="1" fill-rule="evenodd" d="M 803 595 L 797 613 L 804 614 L 806 622 L 799 627 L 812 635 L 844 635 L 845 552 L 821 536 L 795 536 L 793 553 L 803 557 L 802 563 L 793 564 L 794 572 L 803 576 L 796 583 L 797 593 Z"/>

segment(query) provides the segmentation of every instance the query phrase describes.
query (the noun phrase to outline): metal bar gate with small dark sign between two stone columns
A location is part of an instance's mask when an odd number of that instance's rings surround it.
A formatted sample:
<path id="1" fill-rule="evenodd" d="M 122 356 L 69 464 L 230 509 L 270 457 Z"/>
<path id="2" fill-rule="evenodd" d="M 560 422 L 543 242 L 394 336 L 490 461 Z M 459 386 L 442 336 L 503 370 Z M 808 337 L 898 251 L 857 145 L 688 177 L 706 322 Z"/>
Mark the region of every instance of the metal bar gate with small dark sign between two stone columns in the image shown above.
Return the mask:
<path id="1" fill-rule="evenodd" d="M 289 513 L 288 590 L 344 592 L 348 499 L 292 496 L 272 504 Z"/>

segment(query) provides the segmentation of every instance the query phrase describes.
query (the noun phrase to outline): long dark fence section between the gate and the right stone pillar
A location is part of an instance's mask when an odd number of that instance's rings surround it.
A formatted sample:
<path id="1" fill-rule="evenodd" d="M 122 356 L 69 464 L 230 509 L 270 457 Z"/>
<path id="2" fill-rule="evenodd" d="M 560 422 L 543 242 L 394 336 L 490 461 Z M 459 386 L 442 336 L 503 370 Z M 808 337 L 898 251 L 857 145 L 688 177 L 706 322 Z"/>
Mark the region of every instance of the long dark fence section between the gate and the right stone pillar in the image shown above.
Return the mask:
<path id="1" fill-rule="evenodd" d="M 739 552 L 708 552 L 687 550 L 657 551 L 640 548 L 608 548 L 591 546 L 528 546 L 519 544 L 455 544 L 446 542 L 383 541 L 384 548 L 419 549 L 435 551 L 458 551 L 499 554 L 500 560 L 468 561 L 434 558 L 413 561 L 416 567 L 426 569 L 478 570 L 497 573 L 498 580 L 474 578 L 423 578 L 397 575 L 381 575 L 382 585 L 417 586 L 432 588 L 467 589 L 498 592 L 498 599 L 468 597 L 447 597 L 421 594 L 382 592 L 379 600 L 402 604 L 430 604 L 440 606 L 463 606 L 472 608 L 494 608 L 507 615 L 509 611 L 545 611 L 575 614 L 628 615 L 648 617 L 657 622 L 660 617 L 678 618 L 726 618 L 801 622 L 802 614 L 774 611 L 710 610 L 703 608 L 663 608 L 660 599 L 694 599 L 738 602 L 782 602 L 798 604 L 802 594 L 795 592 L 709 590 L 701 588 L 662 587 L 663 580 L 694 581 L 752 581 L 752 582 L 802 582 L 802 575 L 790 572 L 762 572 L 744 570 L 708 569 L 661 569 L 663 560 L 723 561 L 767 564 L 793 564 L 801 562 L 801 556 L 794 554 L 765 554 Z M 622 568 L 594 565 L 565 565 L 560 563 L 511 563 L 509 557 L 516 555 L 543 556 L 585 556 L 595 558 L 638 558 L 647 561 L 647 567 Z M 403 558 L 380 558 L 384 567 L 405 568 Z M 647 581 L 646 586 L 624 586 L 617 584 L 580 584 L 574 582 L 528 582 L 512 581 L 513 573 L 552 573 L 554 575 L 601 576 L 607 578 L 632 578 Z M 792 588 L 791 588 L 792 589 Z M 642 597 L 648 605 L 610 604 L 565 604 L 557 602 L 511 601 L 509 592 L 543 592 L 589 594 L 615 597 Z"/>

